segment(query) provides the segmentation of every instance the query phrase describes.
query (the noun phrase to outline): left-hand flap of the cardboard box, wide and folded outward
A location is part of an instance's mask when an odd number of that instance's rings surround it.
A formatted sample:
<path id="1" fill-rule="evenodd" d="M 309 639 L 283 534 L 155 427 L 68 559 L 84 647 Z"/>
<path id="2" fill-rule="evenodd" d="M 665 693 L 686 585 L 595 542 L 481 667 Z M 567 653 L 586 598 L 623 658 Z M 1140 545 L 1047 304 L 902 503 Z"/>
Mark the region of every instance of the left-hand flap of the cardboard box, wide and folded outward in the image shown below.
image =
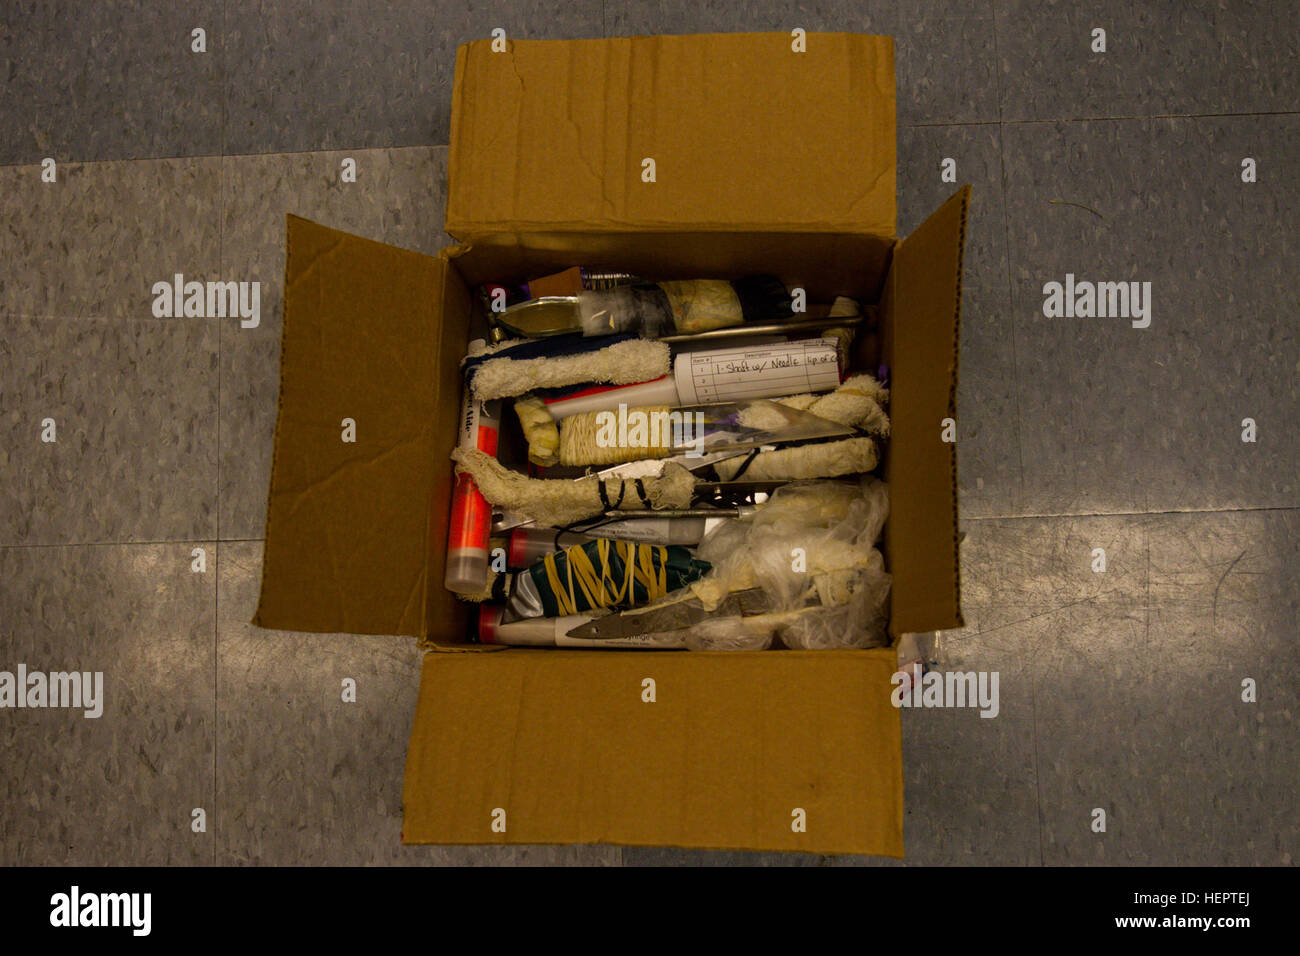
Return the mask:
<path id="1" fill-rule="evenodd" d="M 464 333 L 450 341 L 437 320 L 448 267 L 296 216 L 287 247 L 254 623 L 419 635 L 429 502 L 450 480 L 447 432 L 454 441 L 458 419 L 459 386 L 448 408 L 445 376 L 464 350 Z M 343 419 L 356 423 L 355 442 L 342 440 Z"/>

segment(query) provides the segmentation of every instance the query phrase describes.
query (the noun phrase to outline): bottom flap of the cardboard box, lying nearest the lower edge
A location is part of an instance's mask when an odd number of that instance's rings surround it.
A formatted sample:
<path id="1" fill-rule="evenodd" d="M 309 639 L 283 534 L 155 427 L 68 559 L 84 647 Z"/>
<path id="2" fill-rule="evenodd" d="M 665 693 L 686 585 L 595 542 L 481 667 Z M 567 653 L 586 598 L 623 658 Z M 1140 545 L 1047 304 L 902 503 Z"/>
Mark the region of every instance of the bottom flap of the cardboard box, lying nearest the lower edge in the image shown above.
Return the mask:
<path id="1" fill-rule="evenodd" d="M 403 840 L 901 856 L 896 667 L 890 648 L 426 654 Z"/>

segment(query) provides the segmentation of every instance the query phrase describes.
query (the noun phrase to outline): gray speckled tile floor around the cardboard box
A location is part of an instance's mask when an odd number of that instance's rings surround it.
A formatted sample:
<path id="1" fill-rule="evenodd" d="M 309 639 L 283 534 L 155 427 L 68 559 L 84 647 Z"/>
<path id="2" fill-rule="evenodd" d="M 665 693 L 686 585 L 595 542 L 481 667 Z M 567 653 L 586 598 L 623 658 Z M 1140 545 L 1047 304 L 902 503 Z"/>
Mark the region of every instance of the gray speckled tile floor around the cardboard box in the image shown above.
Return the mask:
<path id="1" fill-rule="evenodd" d="M 945 157 L 975 187 L 959 390 L 968 627 L 939 635 L 935 658 L 997 670 L 1002 701 L 997 719 L 905 711 L 906 862 L 1295 862 L 1300 8 L 559 9 L 0 10 L 0 666 L 108 682 L 104 719 L 0 718 L 0 862 L 893 862 L 402 848 L 411 641 L 247 624 L 282 216 L 446 243 L 454 51 L 497 26 L 897 36 L 900 230 L 952 191 Z M 339 178 L 344 156 L 355 185 Z M 1257 182 L 1242 181 L 1245 157 Z M 155 319 L 150 284 L 177 271 L 261 281 L 260 326 Z M 1041 286 L 1067 272 L 1152 282 L 1150 326 L 1044 319 Z M 47 418 L 57 442 L 40 441 Z M 339 701 L 347 678 L 355 705 Z"/>

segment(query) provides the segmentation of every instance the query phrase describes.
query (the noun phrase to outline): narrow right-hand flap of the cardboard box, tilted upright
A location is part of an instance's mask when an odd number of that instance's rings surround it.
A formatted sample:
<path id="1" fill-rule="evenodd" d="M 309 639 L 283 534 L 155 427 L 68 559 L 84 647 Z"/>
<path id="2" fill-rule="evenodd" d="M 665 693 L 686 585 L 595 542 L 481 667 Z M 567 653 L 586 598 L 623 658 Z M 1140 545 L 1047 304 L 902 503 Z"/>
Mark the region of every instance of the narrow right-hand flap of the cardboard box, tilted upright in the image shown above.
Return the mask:
<path id="1" fill-rule="evenodd" d="M 881 312 L 890 362 L 885 548 L 892 633 L 962 627 L 957 553 L 957 418 L 962 254 L 970 186 L 894 251 Z"/>

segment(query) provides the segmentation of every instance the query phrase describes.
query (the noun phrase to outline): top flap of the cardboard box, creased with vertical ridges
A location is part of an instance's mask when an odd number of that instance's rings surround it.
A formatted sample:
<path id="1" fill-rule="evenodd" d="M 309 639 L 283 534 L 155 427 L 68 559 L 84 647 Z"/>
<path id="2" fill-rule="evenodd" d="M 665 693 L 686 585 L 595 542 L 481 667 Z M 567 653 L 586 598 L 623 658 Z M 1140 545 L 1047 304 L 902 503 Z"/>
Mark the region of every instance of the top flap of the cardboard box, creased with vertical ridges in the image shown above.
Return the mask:
<path id="1" fill-rule="evenodd" d="M 896 228 L 893 38 L 462 46 L 447 232 Z M 655 182 L 642 181 L 642 160 Z"/>

